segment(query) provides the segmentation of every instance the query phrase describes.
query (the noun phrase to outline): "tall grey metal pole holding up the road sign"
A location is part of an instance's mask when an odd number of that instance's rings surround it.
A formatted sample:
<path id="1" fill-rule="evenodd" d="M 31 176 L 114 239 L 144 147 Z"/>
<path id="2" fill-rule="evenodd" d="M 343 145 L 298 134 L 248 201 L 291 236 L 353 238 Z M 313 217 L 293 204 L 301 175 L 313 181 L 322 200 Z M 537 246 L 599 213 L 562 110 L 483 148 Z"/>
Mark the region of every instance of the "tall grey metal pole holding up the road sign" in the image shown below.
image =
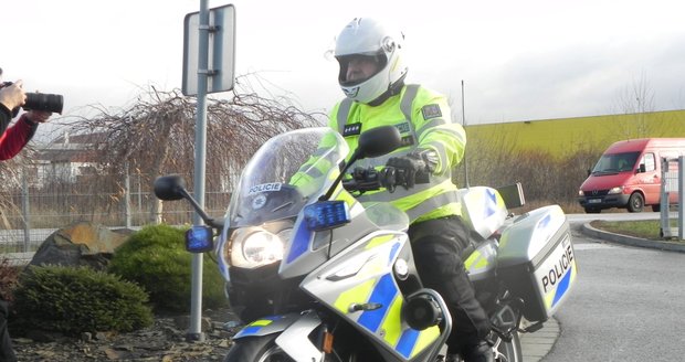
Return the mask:
<path id="1" fill-rule="evenodd" d="M 204 159 L 207 153 L 207 77 L 209 58 L 209 1 L 200 0 L 200 31 L 198 54 L 198 114 L 196 119 L 196 168 L 194 198 L 200 207 L 204 207 Z M 194 225 L 202 225 L 198 213 L 193 216 Z M 202 253 L 192 254 L 192 280 L 190 294 L 190 329 L 186 339 L 204 341 L 202 333 Z"/>

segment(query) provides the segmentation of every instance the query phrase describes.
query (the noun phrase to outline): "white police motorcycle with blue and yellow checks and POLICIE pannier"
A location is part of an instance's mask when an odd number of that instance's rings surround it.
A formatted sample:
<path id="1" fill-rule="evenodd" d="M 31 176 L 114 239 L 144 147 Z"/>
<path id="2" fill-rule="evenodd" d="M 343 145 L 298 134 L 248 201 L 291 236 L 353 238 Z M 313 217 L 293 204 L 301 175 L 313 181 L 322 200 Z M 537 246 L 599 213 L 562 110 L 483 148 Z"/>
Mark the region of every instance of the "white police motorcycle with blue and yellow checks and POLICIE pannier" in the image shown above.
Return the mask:
<path id="1" fill-rule="evenodd" d="M 281 134 L 245 167 L 223 221 L 209 217 L 179 177 L 156 180 L 158 198 L 187 199 L 209 225 L 193 226 L 187 247 L 215 244 L 231 308 L 246 322 L 225 361 L 444 359 L 452 319 L 441 296 L 422 287 L 409 217 L 352 195 L 381 183 L 371 169 L 350 178 L 355 162 L 400 143 L 394 127 L 365 131 L 345 163 L 348 146 L 329 128 Z M 541 328 L 576 279 L 569 224 L 557 205 L 512 216 L 492 188 L 459 196 L 474 239 L 463 257 L 491 317 L 496 361 L 523 361 L 519 334 Z"/>

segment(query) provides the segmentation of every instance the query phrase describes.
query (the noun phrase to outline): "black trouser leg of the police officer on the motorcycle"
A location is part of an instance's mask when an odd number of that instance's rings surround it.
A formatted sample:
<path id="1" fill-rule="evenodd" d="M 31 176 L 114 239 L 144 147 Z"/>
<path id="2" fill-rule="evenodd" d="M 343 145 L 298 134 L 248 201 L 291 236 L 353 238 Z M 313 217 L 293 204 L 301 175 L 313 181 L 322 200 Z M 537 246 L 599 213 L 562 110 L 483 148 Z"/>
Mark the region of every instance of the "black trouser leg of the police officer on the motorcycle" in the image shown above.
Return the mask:
<path id="1" fill-rule="evenodd" d="M 459 216 L 414 223 L 409 227 L 414 263 L 423 286 L 445 300 L 452 315 L 450 351 L 475 344 L 489 332 L 489 320 L 476 300 L 462 251 L 468 245 L 468 230 Z"/>

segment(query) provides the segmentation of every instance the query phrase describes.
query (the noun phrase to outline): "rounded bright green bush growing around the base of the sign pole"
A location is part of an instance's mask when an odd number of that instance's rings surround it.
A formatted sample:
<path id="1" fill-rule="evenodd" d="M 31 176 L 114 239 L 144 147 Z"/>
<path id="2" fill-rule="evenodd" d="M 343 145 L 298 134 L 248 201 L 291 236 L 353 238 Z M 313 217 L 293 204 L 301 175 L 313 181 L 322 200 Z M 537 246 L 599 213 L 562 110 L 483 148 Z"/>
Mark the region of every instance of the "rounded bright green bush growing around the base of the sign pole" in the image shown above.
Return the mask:
<path id="1" fill-rule="evenodd" d="M 185 230 L 150 225 L 134 233 L 115 252 L 108 270 L 143 286 L 159 310 L 189 311 L 192 254 L 186 251 Z M 225 304 L 223 278 L 217 263 L 203 258 L 202 306 Z"/>

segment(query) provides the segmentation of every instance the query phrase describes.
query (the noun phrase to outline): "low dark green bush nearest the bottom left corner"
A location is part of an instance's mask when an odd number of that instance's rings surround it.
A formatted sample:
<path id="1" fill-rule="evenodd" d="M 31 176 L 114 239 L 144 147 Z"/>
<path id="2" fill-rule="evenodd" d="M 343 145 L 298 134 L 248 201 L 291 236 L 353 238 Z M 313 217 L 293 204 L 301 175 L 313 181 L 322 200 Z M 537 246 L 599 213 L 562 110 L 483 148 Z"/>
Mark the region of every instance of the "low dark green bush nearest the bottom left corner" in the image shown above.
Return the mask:
<path id="1" fill-rule="evenodd" d="M 152 323 L 148 296 L 139 286 L 88 267 L 31 266 L 14 290 L 21 330 L 76 336 L 81 332 L 130 332 Z"/>

